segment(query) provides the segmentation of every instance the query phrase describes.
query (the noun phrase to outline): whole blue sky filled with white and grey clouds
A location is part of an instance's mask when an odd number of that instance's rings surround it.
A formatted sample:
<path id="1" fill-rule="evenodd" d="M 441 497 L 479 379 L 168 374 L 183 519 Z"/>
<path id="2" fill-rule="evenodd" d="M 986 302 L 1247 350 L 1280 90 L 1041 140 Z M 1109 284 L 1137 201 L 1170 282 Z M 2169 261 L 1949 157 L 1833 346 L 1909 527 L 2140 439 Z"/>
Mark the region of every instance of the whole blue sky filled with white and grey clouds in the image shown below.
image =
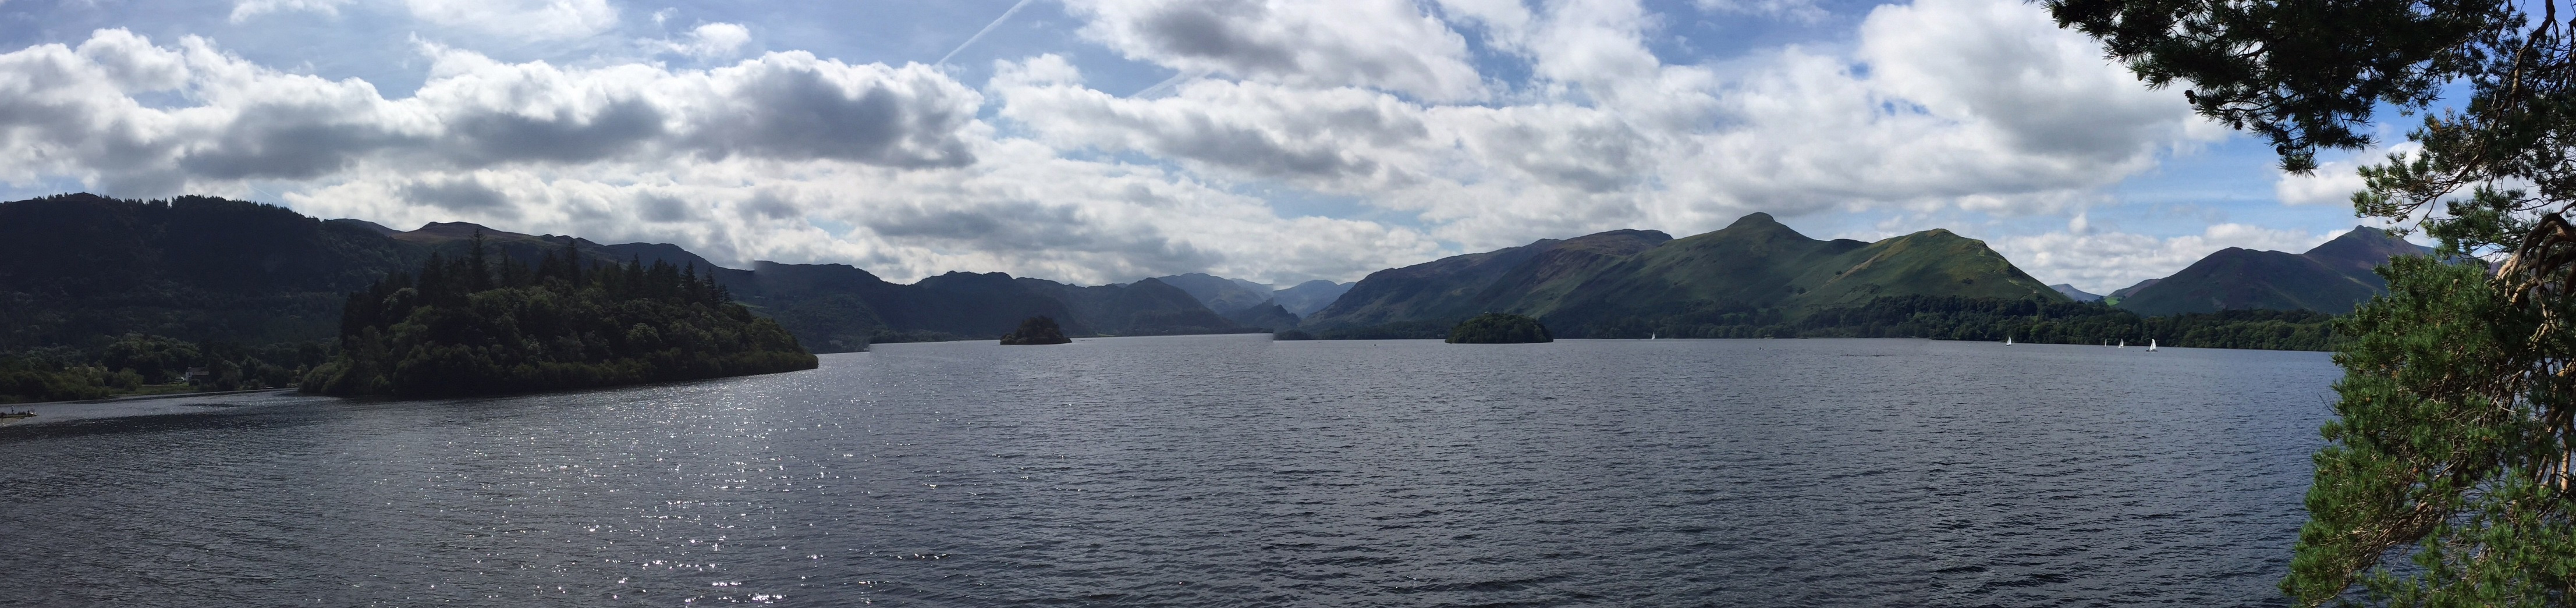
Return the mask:
<path id="1" fill-rule="evenodd" d="M 2349 160 L 2272 162 L 2020 0 L 0 0 L 5 198 L 896 281 L 1352 281 L 1770 211 L 2110 291 L 2357 224 Z"/>

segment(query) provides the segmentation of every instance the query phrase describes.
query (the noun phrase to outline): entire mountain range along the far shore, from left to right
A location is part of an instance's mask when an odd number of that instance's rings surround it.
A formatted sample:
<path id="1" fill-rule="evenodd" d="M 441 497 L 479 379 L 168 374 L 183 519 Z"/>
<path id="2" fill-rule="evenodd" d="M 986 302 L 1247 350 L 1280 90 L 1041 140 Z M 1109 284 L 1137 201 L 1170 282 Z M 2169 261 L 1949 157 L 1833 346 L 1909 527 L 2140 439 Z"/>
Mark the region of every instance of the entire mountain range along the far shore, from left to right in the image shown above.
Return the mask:
<path id="1" fill-rule="evenodd" d="M 2043 286 L 1978 240 L 1927 229 L 1880 242 L 1814 240 L 1770 214 L 1674 240 L 1613 229 L 1571 240 L 1386 268 L 1355 283 L 1273 289 L 1208 273 L 1072 286 L 1007 273 L 891 283 L 840 263 L 721 268 L 677 245 L 600 245 L 461 222 L 389 229 L 289 209 L 183 196 L 88 193 L 0 204 L 0 348 L 90 345 L 144 332 L 216 343 L 312 343 L 337 330 L 345 294 L 430 255 L 489 252 L 533 263 L 567 245 L 587 263 L 672 263 L 714 276 L 809 350 L 889 340 L 994 337 L 1025 317 L 1069 335 L 1311 330 L 1427 337 L 1481 314 L 1543 319 L 1558 337 L 1741 335 L 1888 296 L 2102 299 Z M 2349 312 L 2383 291 L 2372 265 L 2424 247 L 2354 229 L 2316 250 L 2221 250 L 2159 281 L 2112 291 L 2138 314 L 2215 309 Z"/>

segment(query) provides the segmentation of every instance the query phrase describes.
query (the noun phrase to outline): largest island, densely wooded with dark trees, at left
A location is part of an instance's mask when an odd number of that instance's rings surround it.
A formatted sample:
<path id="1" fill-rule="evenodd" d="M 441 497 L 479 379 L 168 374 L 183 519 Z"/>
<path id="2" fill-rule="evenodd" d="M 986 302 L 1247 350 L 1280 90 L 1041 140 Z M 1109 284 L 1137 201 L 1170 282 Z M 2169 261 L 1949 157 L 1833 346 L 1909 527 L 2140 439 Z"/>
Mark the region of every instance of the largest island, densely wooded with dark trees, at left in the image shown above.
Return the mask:
<path id="1" fill-rule="evenodd" d="M 505 394 L 814 368 L 778 322 L 698 268 L 590 265 L 567 245 L 538 263 L 430 255 L 350 294 L 340 356 L 314 394 Z"/>

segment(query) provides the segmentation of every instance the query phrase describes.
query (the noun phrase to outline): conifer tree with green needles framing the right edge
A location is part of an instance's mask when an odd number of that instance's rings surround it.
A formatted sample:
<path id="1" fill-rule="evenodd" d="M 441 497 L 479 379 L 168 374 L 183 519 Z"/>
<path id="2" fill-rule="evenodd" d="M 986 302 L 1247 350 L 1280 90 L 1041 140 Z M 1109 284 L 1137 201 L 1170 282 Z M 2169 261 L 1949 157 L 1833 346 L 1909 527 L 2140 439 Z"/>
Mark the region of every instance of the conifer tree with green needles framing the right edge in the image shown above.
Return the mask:
<path id="1" fill-rule="evenodd" d="M 2421 116 L 2354 211 L 2442 258 L 2336 332 L 2336 420 L 2282 590 L 2303 603 L 2576 603 L 2576 10 L 2555 0 L 2048 0 L 2148 85 L 2257 131 L 2293 173 Z M 2468 95 L 2442 103 L 2445 85 Z M 2494 268 L 2488 268 L 2494 263 Z M 2411 567 L 2388 556 L 2411 551 Z"/>

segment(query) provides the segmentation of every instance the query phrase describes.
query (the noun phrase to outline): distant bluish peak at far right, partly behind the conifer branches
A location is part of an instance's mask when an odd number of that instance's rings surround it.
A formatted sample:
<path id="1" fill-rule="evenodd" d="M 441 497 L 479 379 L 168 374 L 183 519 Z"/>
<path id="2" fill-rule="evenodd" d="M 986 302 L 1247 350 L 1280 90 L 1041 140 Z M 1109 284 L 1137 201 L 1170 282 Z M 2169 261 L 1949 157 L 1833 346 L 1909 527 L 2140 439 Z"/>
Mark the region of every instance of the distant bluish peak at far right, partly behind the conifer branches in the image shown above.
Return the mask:
<path id="1" fill-rule="evenodd" d="M 2298 255 L 2226 247 L 2174 276 L 2138 286 L 2117 307 L 2148 317 L 2221 309 L 2344 314 L 2388 291 L 2388 283 L 2370 268 L 2396 255 L 2427 252 L 2432 250 L 2372 227 L 2354 227 Z"/>

